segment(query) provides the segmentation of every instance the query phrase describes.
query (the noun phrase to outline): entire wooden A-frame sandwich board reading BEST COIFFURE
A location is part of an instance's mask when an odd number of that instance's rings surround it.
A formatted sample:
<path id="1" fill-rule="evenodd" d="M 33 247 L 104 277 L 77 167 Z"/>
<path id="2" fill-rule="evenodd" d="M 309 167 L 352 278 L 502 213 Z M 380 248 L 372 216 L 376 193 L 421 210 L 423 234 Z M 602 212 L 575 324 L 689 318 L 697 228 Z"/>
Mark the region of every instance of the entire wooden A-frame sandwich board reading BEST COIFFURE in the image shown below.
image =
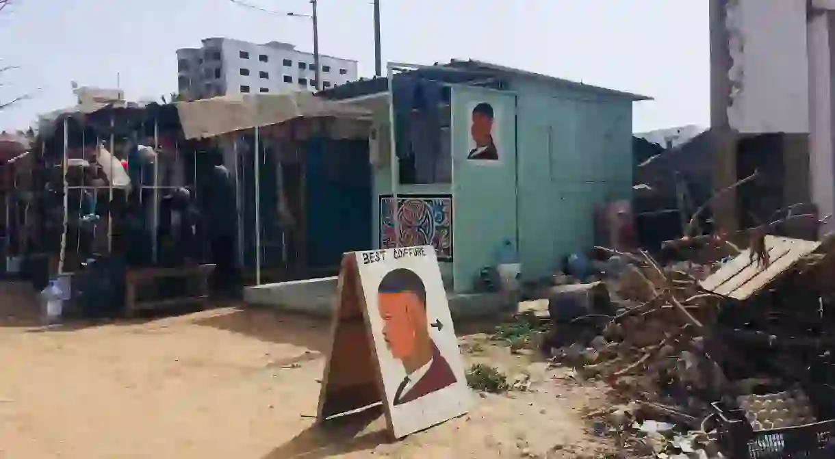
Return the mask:
<path id="1" fill-rule="evenodd" d="M 471 393 L 431 245 L 345 255 L 318 418 L 382 401 L 396 438 L 461 416 Z"/>

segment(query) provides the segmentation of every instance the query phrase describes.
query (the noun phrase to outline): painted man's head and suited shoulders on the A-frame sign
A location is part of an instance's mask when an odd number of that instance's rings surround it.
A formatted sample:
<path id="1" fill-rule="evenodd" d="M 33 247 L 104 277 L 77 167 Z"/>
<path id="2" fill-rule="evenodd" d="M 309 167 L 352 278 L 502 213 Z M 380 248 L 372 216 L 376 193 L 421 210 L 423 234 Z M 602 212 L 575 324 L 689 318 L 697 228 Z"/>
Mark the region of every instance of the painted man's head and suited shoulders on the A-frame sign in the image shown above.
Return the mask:
<path id="1" fill-rule="evenodd" d="M 388 272 L 377 288 L 377 298 L 386 346 L 406 371 L 394 405 L 455 384 L 452 369 L 429 335 L 426 288 L 420 276 L 405 268 Z"/>

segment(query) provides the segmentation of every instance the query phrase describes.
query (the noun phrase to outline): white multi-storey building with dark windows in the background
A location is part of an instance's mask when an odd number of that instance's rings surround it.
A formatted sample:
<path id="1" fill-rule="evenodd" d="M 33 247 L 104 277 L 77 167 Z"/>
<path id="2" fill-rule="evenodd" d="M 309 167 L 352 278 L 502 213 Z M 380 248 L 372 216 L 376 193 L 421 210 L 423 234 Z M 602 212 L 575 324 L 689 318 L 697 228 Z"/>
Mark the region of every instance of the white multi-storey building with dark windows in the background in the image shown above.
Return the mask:
<path id="1" fill-rule="evenodd" d="M 291 43 L 264 44 L 205 38 L 202 48 L 177 50 L 178 91 L 193 98 L 228 93 L 275 93 L 316 89 L 313 53 Z M 321 88 L 357 79 L 357 61 L 320 54 Z"/>

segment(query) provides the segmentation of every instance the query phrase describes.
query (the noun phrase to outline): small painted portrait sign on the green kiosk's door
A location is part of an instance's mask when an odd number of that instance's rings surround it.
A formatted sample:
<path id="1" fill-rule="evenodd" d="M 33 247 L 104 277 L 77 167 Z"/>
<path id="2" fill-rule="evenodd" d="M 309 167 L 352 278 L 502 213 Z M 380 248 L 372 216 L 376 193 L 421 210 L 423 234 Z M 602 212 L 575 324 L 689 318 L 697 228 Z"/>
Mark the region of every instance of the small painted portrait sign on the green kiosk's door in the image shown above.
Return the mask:
<path id="1" fill-rule="evenodd" d="M 468 105 L 469 142 L 467 159 L 479 164 L 501 164 L 502 144 L 498 126 L 502 122 L 501 110 L 488 102 Z"/>

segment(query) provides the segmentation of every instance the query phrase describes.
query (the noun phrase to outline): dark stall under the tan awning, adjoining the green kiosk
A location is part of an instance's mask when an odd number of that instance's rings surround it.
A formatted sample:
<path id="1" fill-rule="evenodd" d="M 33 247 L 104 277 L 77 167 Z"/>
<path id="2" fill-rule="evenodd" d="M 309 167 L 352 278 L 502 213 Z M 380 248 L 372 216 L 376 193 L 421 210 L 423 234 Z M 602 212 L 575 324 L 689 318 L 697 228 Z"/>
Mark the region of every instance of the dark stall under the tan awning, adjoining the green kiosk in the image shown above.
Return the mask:
<path id="1" fill-rule="evenodd" d="M 328 240 L 352 240 L 345 234 L 352 228 L 360 228 L 359 244 L 368 240 L 370 248 L 370 214 L 362 219 L 367 229 L 362 224 L 345 224 L 349 219 L 343 219 L 339 238 L 330 226 L 327 238 L 311 241 L 311 234 L 328 226 L 317 215 L 345 216 L 346 209 L 356 213 L 371 199 L 370 173 L 363 175 L 369 167 L 371 113 L 366 108 L 335 103 L 306 91 L 235 94 L 177 103 L 177 108 L 185 139 L 220 139 L 225 144 L 225 165 L 235 171 L 239 199 L 238 260 L 251 266 L 256 285 L 261 284 L 265 267 L 269 271 L 281 267 L 287 276 L 286 266 L 295 265 L 298 269 L 290 277 L 311 275 L 316 251 L 326 247 Z M 342 159 L 337 166 L 330 163 L 330 169 L 342 171 L 340 177 L 331 174 L 325 179 L 321 175 L 328 169 L 322 164 L 325 157 Z M 350 174 L 352 170 L 357 174 Z M 357 194 L 365 200 L 354 203 L 353 209 L 327 199 L 336 195 L 351 199 L 357 186 L 368 191 L 367 196 Z M 314 207 L 320 211 L 311 212 Z M 350 248 L 363 247 L 354 244 Z M 334 247 L 328 252 L 341 255 L 345 250 Z M 253 256 L 247 256 L 249 253 Z M 313 256 L 309 259 L 308 255 Z"/>

